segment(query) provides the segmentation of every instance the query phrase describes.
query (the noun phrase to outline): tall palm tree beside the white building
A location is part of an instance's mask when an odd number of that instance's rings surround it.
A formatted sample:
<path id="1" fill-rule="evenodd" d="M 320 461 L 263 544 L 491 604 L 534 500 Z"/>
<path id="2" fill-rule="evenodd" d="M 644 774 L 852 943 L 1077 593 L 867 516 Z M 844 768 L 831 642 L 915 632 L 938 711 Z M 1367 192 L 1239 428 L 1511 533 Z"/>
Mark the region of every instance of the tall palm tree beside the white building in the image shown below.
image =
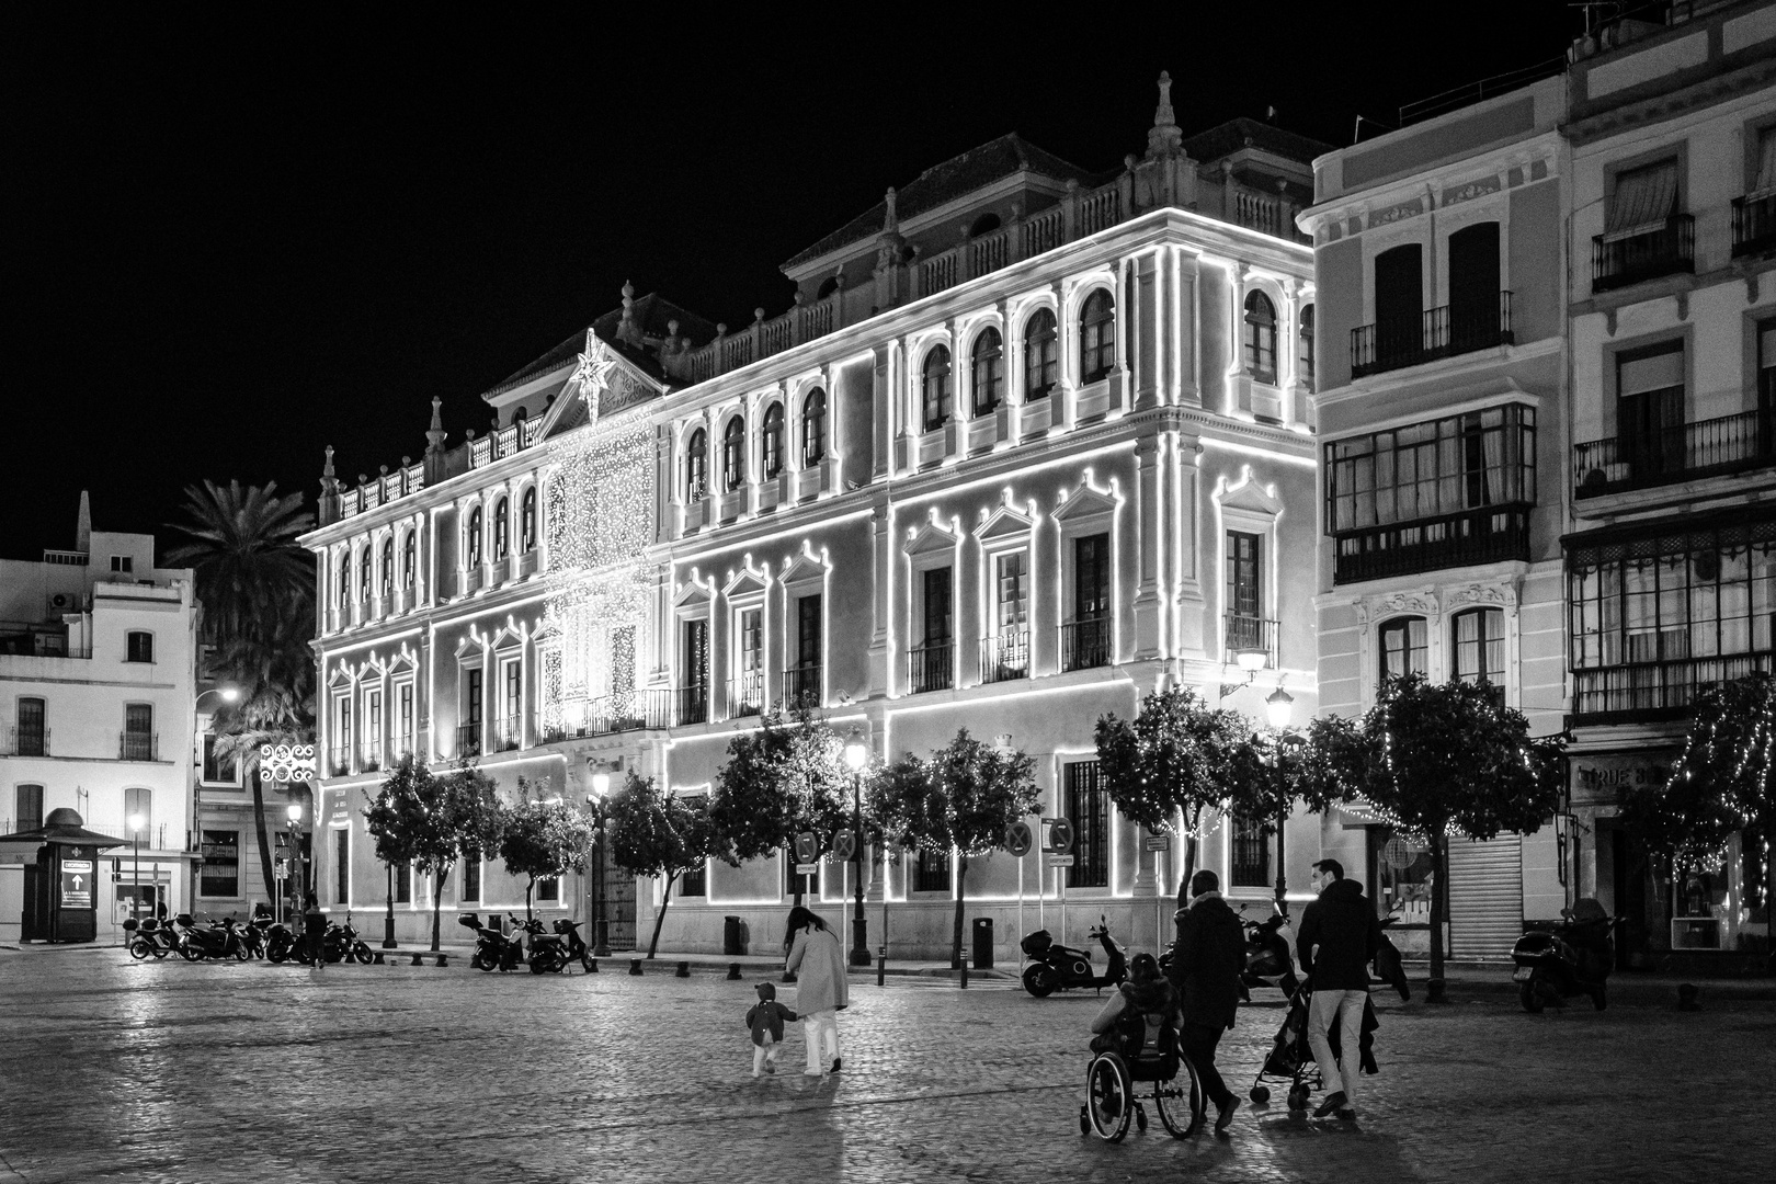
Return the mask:
<path id="1" fill-rule="evenodd" d="M 252 785 L 259 831 L 259 870 L 266 896 L 275 895 L 272 843 L 265 825 L 265 786 L 258 776 L 261 744 L 314 738 L 314 564 L 297 541 L 314 525 L 302 495 L 204 481 L 185 488 L 185 522 L 172 529 L 192 541 L 165 556 L 190 566 L 204 605 L 204 639 L 215 646 L 213 678 L 240 691 L 233 710 L 217 717 L 217 753 L 233 756 Z"/>

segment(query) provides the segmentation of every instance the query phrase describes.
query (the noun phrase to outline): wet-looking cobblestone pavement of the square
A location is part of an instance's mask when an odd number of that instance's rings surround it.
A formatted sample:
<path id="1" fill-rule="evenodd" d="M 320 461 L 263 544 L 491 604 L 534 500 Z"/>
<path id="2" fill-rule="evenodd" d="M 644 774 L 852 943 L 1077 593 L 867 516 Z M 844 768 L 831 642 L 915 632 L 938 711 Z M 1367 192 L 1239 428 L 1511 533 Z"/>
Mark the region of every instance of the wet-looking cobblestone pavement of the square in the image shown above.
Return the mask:
<path id="1" fill-rule="evenodd" d="M 1389 994 L 1359 1122 L 1245 1106 L 1229 1138 L 1105 1145 L 1078 1133 L 1090 994 L 856 985 L 842 1074 L 805 1079 L 792 1026 L 753 1081 L 753 982 L 0 959 L 0 1182 L 1723 1184 L 1769 1179 L 1776 1140 L 1767 1003 Z M 1241 1093 L 1280 1019 L 1257 1005 L 1222 1042 Z"/>

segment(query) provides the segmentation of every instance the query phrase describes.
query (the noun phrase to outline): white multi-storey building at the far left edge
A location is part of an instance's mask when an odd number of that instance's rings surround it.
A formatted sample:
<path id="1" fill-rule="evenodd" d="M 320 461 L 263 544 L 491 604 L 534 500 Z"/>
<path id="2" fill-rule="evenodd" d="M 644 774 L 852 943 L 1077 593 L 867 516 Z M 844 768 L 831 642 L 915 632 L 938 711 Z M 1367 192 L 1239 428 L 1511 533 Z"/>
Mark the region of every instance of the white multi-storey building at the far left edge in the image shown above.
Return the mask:
<path id="1" fill-rule="evenodd" d="M 194 588 L 151 534 L 92 531 L 85 495 L 73 550 L 0 559 L 0 833 L 71 808 L 126 840 L 101 859 L 99 941 L 135 902 L 192 902 Z M 23 905 L 25 868 L 0 866 L 0 941 L 30 935 Z"/>

